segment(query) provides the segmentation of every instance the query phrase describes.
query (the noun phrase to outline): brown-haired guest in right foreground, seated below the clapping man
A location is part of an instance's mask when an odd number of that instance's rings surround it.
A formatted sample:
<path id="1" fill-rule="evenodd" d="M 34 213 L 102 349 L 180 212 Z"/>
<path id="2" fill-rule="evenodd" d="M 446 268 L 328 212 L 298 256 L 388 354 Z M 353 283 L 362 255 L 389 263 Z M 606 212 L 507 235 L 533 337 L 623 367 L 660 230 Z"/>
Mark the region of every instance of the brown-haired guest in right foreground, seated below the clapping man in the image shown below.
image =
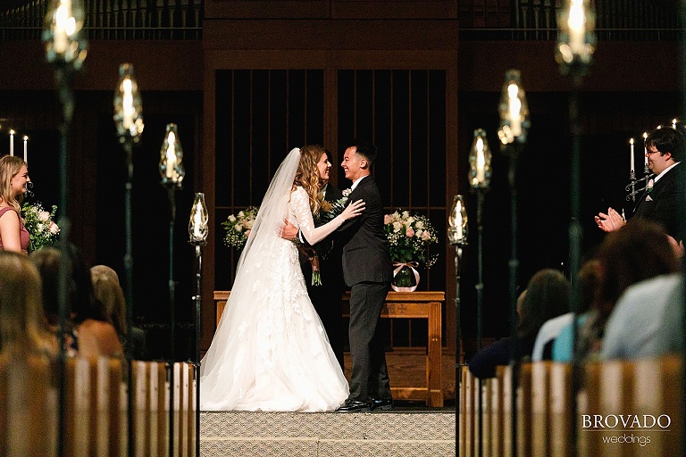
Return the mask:
<path id="1" fill-rule="evenodd" d="M 580 358 L 598 358 L 607 319 L 628 287 L 680 270 L 680 262 L 664 228 L 640 218 L 603 240 L 598 249 L 598 263 L 598 294 L 579 331 Z"/>

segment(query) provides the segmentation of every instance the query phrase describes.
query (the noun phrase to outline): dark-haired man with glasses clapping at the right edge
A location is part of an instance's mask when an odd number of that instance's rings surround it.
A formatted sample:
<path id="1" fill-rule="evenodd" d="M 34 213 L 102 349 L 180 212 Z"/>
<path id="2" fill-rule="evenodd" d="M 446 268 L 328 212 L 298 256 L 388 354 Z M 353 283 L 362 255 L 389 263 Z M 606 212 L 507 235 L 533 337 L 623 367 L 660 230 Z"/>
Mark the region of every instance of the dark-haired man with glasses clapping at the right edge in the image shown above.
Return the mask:
<path id="1" fill-rule="evenodd" d="M 660 126 L 646 138 L 648 168 L 655 176 L 648 180 L 632 216 L 660 223 L 676 242 L 684 238 L 683 203 L 686 202 L 686 173 L 680 165 L 686 156 L 686 138 L 681 129 L 683 127 L 678 125 Z M 615 231 L 626 223 L 613 208 L 608 208 L 607 214 L 599 212 L 595 220 L 598 228 L 606 232 Z"/>

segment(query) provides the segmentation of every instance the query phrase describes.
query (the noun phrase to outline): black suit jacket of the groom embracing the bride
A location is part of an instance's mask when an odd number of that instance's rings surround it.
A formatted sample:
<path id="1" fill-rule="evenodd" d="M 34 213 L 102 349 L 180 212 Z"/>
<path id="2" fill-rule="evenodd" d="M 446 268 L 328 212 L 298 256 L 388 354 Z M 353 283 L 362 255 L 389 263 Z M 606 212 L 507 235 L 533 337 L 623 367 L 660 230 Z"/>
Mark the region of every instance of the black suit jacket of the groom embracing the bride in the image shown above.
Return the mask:
<path id="1" fill-rule="evenodd" d="M 383 231 L 381 193 L 372 176 L 362 179 L 348 202 L 364 201 L 364 212 L 340 228 L 343 278 L 348 287 L 361 282 L 389 283 L 393 278 L 389 246 Z"/>

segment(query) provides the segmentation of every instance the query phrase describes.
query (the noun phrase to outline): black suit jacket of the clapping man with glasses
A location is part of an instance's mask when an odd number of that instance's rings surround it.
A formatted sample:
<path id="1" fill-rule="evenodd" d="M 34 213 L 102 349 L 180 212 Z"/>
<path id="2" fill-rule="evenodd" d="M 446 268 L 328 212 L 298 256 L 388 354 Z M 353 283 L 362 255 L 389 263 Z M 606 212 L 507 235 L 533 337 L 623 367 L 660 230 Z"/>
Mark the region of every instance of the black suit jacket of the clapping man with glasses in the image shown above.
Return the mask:
<path id="1" fill-rule="evenodd" d="M 677 241 L 683 238 L 684 212 L 682 205 L 686 198 L 686 165 L 679 163 L 667 171 L 650 192 L 641 195 L 632 217 L 654 220 Z"/>

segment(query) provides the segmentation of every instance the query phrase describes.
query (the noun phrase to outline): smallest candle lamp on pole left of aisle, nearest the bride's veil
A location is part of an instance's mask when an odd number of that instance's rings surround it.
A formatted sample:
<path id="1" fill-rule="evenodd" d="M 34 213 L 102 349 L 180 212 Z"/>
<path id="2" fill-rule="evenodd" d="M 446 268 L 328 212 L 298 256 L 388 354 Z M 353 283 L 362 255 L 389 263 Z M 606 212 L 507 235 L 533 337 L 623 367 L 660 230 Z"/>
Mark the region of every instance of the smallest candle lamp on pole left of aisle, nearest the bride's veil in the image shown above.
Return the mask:
<path id="1" fill-rule="evenodd" d="M 203 267 L 203 252 L 201 246 L 207 244 L 207 207 L 205 206 L 205 194 L 196 193 L 193 208 L 190 211 L 190 221 L 188 222 L 188 243 L 196 247 L 196 295 L 193 300 L 196 302 L 196 455 L 200 455 L 200 307 L 201 282 Z"/>

